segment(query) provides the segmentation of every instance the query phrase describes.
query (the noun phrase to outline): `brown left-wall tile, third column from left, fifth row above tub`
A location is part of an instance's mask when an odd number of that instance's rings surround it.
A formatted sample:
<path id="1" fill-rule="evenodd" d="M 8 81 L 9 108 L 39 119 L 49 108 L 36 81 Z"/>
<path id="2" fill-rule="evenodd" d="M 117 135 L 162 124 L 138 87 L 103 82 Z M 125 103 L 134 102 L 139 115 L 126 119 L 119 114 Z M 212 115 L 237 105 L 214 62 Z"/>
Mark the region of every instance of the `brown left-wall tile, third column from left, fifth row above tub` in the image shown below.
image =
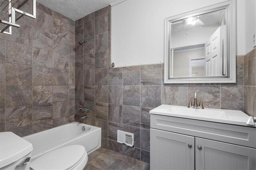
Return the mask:
<path id="1" fill-rule="evenodd" d="M 33 47 L 33 66 L 52 68 L 52 49 Z"/>

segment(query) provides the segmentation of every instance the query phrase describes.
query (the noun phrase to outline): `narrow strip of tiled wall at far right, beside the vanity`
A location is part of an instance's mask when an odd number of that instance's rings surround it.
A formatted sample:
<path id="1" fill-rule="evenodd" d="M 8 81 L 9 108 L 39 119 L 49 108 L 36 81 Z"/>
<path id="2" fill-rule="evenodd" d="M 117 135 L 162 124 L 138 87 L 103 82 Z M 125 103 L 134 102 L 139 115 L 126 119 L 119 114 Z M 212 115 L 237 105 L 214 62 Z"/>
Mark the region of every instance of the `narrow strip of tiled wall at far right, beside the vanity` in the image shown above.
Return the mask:
<path id="1" fill-rule="evenodd" d="M 244 112 L 256 117 L 256 48 L 244 55 Z"/>

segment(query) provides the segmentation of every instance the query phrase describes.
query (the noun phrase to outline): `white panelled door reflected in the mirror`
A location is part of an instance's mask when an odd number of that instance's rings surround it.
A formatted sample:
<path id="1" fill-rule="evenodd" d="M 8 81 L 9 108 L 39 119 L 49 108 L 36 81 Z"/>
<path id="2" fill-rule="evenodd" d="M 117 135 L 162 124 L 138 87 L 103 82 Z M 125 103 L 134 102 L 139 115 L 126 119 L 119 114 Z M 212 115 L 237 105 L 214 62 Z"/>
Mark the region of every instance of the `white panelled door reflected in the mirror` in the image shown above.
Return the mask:
<path id="1" fill-rule="evenodd" d="M 221 26 L 210 36 L 205 43 L 205 75 L 220 76 L 222 75 L 222 55 L 220 45 Z"/>

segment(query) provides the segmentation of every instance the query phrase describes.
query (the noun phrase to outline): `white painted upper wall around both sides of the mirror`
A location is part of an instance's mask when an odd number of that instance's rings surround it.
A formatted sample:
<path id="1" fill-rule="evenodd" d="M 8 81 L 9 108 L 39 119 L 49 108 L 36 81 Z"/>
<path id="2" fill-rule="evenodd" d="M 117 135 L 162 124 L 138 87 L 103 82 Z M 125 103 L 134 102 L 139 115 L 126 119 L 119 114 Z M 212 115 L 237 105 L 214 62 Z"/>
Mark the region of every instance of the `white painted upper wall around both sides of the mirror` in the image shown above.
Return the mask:
<path id="1" fill-rule="evenodd" d="M 112 62 L 115 67 L 164 62 L 164 18 L 223 1 L 126 0 L 112 6 Z M 236 54 L 243 55 L 253 47 L 249 39 L 256 31 L 255 0 L 237 0 L 236 7 Z M 248 16 L 252 19 L 246 20 Z"/>

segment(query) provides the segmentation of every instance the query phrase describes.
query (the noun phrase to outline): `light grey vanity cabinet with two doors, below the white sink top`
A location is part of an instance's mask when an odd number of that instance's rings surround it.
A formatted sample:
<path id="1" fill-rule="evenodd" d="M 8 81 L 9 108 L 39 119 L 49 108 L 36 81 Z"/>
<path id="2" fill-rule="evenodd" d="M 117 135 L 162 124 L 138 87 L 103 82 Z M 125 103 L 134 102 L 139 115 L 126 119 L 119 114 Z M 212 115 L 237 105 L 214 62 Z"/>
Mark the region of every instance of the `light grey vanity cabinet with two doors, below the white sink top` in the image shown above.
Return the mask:
<path id="1" fill-rule="evenodd" d="M 150 117 L 150 169 L 256 170 L 256 128 Z"/>

